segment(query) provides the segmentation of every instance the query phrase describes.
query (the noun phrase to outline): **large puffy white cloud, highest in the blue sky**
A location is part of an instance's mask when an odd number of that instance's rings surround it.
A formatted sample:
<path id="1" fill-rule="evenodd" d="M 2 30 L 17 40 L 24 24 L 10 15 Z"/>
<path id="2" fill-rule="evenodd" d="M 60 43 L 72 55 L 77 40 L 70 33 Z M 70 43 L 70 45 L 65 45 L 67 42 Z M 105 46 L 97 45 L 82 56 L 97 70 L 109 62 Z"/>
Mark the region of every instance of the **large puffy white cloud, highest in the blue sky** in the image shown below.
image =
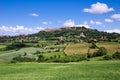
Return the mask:
<path id="1" fill-rule="evenodd" d="M 96 4 L 92 4 L 91 8 L 84 8 L 83 11 L 93 13 L 93 14 L 103 14 L 110 11 L 114 11 L 114 9 L 109 8 L 105 3 L 97 2 Z"/>

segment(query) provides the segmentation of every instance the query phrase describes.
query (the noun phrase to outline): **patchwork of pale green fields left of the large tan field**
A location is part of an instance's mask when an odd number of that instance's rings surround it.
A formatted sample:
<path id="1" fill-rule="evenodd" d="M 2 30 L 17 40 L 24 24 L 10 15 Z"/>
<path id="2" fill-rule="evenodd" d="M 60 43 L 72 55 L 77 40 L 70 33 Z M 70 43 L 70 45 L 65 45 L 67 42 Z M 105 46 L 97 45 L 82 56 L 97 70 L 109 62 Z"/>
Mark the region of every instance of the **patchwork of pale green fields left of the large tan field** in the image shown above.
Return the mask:
<path id="1" fill-rule="evenodd" d="M 37 55 L 34 55 L 37 51 L 44 52 L 44 56 L 46 58 L 54 57 L 54 56 L 64 56 L 63 53 L 64 45 L 57 45 L 57 46 L 47 46 L 45 49 L 42 48 L 36 48 L 36 47 L 28 47 L 28 48 L 22 48 L 18 51 L 16 50 L 8 50 L 8 51 L 0 51 L 0 62 L 2 61 L 11 61 L 13 57 L 24 55 L 24 53 L 27 53 L 26 57 L 34 57 L 36 58 Z M 60 49 L 59 52 L 56 52 L 56 49 Z"/>

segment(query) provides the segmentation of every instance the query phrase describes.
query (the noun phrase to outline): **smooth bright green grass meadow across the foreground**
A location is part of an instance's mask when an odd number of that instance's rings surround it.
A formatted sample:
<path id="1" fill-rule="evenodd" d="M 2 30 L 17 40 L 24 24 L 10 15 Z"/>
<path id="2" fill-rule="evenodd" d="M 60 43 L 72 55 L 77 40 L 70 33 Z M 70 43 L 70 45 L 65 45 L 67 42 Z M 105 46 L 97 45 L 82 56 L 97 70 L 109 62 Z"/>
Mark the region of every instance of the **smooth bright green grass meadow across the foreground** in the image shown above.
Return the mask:
<path id="1" fill-rule="evenodd" d="M 120 61 L 0 64 L 0 80 L 120 80 Z"/>

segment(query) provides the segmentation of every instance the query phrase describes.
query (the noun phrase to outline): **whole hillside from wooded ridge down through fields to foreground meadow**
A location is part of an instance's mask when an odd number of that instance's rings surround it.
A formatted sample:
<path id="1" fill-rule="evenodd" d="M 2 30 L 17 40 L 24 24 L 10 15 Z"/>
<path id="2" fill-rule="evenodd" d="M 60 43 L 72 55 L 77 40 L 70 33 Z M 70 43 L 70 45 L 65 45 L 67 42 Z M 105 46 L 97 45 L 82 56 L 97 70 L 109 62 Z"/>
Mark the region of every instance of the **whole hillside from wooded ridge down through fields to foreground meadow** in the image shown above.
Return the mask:
<path id="1" fill-rule="evenodd" d="M 119 49 L 118 33 L 101 32 L 84 26 L 63 27 L 30 35 L 1 36 L 0 62 L 11 61 L 16 57 L 25 60 L 35 58 L 38 62 L 79 62 L 91 60 L 89 58 L 99 60 L 96 57 L 103 59 L 107 55 L 110 55 L 107 58 L 112 59 Z"/>

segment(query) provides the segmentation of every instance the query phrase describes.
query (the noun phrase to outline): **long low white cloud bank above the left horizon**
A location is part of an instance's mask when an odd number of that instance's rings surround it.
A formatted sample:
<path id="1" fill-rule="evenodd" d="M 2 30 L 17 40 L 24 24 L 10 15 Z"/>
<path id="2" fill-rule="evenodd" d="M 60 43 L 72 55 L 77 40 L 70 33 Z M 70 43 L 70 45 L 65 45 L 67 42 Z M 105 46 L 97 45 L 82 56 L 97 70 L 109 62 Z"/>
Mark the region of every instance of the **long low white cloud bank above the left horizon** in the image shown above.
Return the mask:
<path id="1" fill-rule="evenodd" d="M 20 34 L 32 34 L 43 30 L 42 27 L 28 28 L 24 26 L 1 26 L 0 35 L 20 35 Z"/>

